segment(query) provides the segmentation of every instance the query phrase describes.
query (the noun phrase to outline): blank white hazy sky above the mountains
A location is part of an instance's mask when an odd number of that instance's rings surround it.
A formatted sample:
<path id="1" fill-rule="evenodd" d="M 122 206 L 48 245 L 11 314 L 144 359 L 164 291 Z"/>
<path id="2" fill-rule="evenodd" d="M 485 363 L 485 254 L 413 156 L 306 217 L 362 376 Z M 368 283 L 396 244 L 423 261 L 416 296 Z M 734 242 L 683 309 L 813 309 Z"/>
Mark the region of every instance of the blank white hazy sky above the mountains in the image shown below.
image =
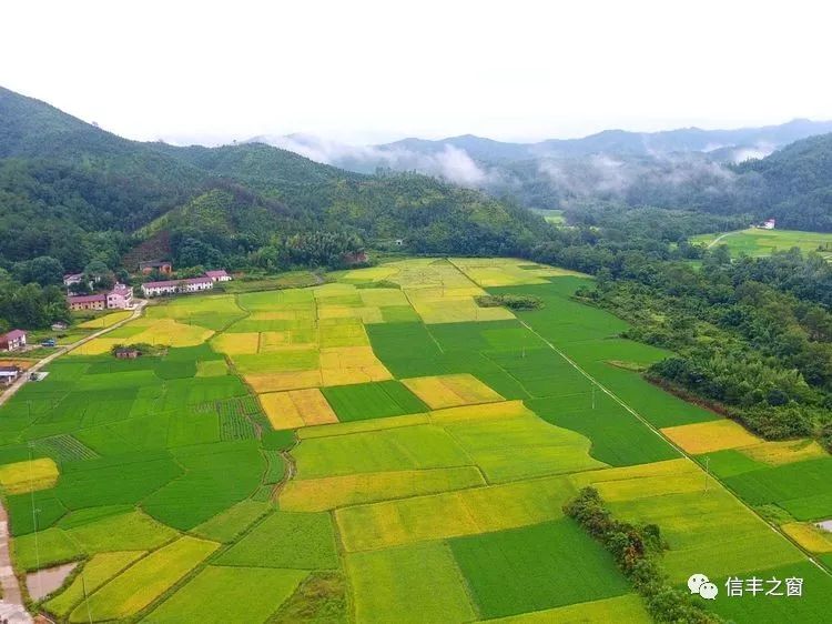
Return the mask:
<path id="1" fill-rule="evenodd" d="M 7 2 L 0 85 L 133 139 L 832 119 L 828 3 Z"/>

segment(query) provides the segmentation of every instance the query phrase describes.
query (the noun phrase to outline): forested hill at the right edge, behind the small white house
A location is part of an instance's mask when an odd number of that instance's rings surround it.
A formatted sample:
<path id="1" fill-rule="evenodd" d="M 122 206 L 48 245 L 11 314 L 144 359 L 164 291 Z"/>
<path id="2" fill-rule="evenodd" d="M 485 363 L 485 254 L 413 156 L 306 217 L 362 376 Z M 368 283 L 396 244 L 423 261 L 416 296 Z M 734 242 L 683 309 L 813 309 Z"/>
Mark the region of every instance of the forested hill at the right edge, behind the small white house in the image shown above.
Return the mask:
<path id="1" fill-rule="evenodd" d="M 832 134 L 798 141 L 738 171 L 759 180 L 761 203 L 783 225 L 832 231 Z"/>

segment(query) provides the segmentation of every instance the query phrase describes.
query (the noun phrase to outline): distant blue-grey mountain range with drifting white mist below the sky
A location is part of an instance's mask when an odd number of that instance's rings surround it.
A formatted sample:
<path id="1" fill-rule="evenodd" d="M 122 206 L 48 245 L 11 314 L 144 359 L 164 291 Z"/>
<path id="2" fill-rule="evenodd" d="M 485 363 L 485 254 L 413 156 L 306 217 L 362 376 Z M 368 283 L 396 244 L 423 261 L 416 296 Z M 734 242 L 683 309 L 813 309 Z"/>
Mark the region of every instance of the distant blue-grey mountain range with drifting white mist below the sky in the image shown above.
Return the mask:
<path id="1" fill-rule="evenodd" d="M 607 130 L 582 139 L 510 143 L 465 134 L 437 141 L 404 139 L 353 147 L 308 134 L 256 137 L 264 142 L 361 173 L 415 171 L 511 198 L 528 208 L 576 203 L 693 207 L 755 212 L 751 175 L 738 165 L 795 141 L 832 132 L 832 121 L 795 119 L 737 130 L 686 128 L 662 132 Z M 745 169 L 743 171 L 751 171 Z M 738 194 L 742 201 L 738 200 Z M 763 204 L 767 202 L 762 202 Z"/>

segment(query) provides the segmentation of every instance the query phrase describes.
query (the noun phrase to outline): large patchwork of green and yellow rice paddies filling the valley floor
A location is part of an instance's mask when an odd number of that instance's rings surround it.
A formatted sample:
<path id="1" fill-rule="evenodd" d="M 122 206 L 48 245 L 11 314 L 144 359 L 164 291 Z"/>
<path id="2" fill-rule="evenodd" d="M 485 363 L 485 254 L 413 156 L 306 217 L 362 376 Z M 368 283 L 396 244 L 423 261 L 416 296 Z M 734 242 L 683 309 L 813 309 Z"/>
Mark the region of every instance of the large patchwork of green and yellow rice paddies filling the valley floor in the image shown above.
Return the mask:
<path id="1" fill-rule="evenodd" d="M 672 583 L 804 578 L 735 622 L 832 607 L 832 460 L 764 442 L 616 362 L 667 352 L 571 299 L 588 278 L 415 259 L 183 296 L 0 409 L 18 573 L 75 562 L 58 622 L 650 622 L 564 504 L 657 524 Z M 265 288 L 265 286 L 264 286 Z M 476 296 L 521 293 L 517 314 Z M 165 345 L 121 361 L 115 341 Z M 700 598 L 696 598 L 700 600 Z M 704 601 L 703 601 L 704 603 Z"/>

